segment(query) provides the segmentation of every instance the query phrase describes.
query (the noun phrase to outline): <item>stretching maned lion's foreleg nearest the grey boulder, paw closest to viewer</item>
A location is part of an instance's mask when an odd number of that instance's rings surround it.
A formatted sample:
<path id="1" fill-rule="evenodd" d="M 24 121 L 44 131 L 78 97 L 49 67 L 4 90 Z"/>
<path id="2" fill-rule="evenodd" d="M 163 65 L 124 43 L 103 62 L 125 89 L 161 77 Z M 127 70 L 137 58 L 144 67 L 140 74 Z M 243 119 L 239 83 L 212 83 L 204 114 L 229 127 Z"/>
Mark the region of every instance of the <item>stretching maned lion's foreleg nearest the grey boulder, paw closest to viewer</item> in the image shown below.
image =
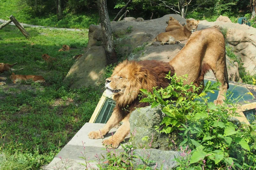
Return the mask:
<path id="1" fill-rule="evenodd" d="M 117 148 L 124 138 L 130 133 L 129 116 L 125 117 L 123 124 L 117 129 L 115 134 L 103 141 L 108 148 Z"/>

